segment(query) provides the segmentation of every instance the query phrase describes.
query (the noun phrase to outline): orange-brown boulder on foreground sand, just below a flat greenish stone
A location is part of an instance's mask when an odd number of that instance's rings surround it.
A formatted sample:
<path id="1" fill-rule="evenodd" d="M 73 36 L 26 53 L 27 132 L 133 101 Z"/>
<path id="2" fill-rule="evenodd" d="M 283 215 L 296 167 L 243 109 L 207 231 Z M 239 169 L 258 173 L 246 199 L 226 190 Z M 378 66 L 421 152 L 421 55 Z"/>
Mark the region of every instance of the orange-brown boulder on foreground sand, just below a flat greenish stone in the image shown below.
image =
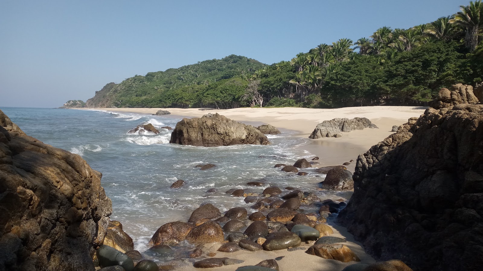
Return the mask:
<path id="1" fill-rule="evenodd" d="M 359 257 L 343 244 L 314 244 L 305 253 L 341 262 L 360 261 Z"/>

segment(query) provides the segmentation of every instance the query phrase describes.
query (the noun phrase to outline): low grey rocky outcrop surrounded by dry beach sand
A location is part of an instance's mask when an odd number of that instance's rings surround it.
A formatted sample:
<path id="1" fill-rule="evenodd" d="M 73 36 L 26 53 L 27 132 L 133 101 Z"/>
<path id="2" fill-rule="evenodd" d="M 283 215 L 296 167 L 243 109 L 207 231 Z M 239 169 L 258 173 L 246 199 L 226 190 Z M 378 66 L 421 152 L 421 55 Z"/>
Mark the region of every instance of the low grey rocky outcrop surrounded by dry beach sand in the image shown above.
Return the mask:
<path id="1" fill-rule="evenodd" d="M 354 130 L 363 130 L 364 128 L 377 128 L 377 126 L 372 124 L 367 118 L 354 118 L 352 120 L 336 118 L 317 124 L 309 138 L 341 137 L 341 132 L 352 132 Z"/>

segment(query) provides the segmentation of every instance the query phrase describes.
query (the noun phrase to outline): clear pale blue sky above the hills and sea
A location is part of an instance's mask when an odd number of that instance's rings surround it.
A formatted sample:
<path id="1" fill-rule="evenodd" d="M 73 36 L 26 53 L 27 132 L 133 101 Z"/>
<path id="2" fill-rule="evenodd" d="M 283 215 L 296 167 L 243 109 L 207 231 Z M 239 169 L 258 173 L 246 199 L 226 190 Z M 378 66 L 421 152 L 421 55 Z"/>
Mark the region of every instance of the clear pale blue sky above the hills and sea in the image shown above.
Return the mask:
<path id="1" fill-rule="evenodd" d="M 266 64 L 320 43 L 409 28 L 469 0 L 0 0 L 0 107 L 58 107 L 108 82 L 244 55 Z"/>

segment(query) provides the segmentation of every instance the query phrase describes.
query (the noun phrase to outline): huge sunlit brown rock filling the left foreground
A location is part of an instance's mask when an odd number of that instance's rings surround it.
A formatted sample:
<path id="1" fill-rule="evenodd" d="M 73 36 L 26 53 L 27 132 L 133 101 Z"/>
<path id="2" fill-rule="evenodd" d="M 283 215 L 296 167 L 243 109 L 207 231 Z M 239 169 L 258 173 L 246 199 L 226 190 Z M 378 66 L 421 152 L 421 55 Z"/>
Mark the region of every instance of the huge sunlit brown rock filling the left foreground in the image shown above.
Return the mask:
<path id="1" fill-rule="evenodd" d="M 100 178 L 0 110 L 0 270 L 93 271 L 112 212 Z"/>

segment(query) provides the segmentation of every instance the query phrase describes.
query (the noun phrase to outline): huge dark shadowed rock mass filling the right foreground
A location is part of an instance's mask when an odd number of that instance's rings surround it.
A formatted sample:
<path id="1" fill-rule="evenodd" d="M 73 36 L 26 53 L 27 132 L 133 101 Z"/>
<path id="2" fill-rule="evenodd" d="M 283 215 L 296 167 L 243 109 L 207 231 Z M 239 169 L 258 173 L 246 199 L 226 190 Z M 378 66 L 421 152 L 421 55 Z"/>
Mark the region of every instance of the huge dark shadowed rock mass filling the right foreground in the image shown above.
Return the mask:
<path id="1" fill-rule="evenodd" d="M 483 105 L 469 86 L 451 89 L 440 91 L 439 109 L 357 158 L 354 194 L 339 217 L 378 259 L 414 270 L 483 266 Z"/>

